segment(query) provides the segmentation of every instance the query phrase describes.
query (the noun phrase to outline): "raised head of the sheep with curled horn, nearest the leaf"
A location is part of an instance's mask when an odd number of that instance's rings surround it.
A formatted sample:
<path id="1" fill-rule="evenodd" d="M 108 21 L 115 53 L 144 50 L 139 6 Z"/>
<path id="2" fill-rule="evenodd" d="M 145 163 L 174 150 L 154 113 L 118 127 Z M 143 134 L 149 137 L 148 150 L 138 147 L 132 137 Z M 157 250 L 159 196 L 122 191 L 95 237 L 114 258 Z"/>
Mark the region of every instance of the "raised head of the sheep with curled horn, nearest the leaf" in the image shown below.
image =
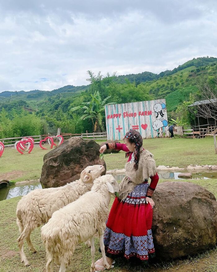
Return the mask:
<path id="1" fill-rule="evenodd" d="M 105 168 L 103 165 L 92 165 L 87 166 L 82 172 L 81 172 L 81 180 L 83 182 L 93 182 L 95 178 L 99 177 L 103 172 L 105 171 Z"/>

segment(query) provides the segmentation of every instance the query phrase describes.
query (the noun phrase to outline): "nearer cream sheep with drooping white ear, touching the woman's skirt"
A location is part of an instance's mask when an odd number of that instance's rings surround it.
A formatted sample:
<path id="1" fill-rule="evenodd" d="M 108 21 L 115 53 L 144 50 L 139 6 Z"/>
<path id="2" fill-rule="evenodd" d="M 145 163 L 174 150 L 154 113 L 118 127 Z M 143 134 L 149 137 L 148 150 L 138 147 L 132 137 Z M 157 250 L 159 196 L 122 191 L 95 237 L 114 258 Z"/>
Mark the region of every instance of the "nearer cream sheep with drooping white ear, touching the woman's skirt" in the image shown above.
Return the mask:
<path id="1" fill-rule="evenodd" d="M 42 241 L 47 252 L 47 272 L 53 272 L 54 261 L 60 265 L 59 272 L 65 272 L 75 247 L 89 238 L 92 255 L 91 272 L 94 272 L 94 234 L 97 231 L 105 268 L 110 268 L 105 256 L 103 236 L 111 195 L 118 191 L 119 185 L 112 175 L 98 177 L 91 191 L 53 213 L 51 219 L 41 229 Z"/>

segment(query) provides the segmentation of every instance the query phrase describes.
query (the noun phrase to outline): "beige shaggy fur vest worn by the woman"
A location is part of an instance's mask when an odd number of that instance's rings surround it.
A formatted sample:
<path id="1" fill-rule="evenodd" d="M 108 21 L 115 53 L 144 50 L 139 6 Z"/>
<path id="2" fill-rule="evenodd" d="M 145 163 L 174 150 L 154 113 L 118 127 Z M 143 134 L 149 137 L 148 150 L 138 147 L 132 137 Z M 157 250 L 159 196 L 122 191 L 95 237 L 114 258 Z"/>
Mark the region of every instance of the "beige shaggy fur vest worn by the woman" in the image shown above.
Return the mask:
<path id="1" fill-rule="evenodd" d="M 120 183 L 120 194 L 119 199 L 123 200 L 129 193 L 133 191 L 136 185 L 148 181 L 149 177 L 154 176 L 157 173 L 155 160 L 153 154 L 148 150 L 140 149 L 138 169 L 134 169 L 134 162 L 127 162 L 125 164 L 126 177 Z"/>

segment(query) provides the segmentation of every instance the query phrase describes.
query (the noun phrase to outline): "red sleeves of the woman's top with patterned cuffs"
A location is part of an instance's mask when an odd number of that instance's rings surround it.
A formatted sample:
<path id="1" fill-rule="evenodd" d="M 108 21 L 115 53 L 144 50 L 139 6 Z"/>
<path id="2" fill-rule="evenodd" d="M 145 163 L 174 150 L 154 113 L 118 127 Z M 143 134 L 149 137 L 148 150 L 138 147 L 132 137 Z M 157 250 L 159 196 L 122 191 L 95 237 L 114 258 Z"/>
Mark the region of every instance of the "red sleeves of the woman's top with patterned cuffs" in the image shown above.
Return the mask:
<path id="1" fill-rule="evenodd" d="M 107 148 L 114 148 L 117 150 L 130 152 L 130 150 L 127 148 L 126 144 L 109 143 L 106 146 L 107 146 Z M 128 162 L 131 160 L 132 154 L 133 154 L 133 152 L 130 153 L 130 156 L 128 158 Z M 148 191 L 147 191 L 147 196 L 149 196 L 149 197 L 151 197 L 153 195 L 153 192 L 157 186 L 157 182 L 159 180 L 158 174 L 156 173 L 154 176 L 150 177 L 150 179 L 151 179 L 151 182 L 150 182 L 150 185 L 149 185 Z"/>

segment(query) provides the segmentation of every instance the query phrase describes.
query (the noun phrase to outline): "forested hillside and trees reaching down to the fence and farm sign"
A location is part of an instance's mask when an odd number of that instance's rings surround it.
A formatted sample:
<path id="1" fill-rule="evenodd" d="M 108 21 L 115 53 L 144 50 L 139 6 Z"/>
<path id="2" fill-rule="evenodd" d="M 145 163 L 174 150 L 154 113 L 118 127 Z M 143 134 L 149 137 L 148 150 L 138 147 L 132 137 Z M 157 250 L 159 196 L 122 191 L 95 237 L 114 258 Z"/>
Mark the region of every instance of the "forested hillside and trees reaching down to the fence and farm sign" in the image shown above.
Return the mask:
<path id="1" fill-rule="evenodd" d="M 189 100 L 191 93 L 197 91 L 195 82 L 202 75 L 209 78 L 217 75 L 217 58 L 193 59 L 172 71 L 164 71 L 158 75 L 143 72 L 102 78 L 99 74 L 96 76 L 92 74 L 91 84 L 86 86 L 68 85 L 52 91 L 2 92 L 0 93 L 0 135 L 6 137 L 7 132 L 8 135 L 17 136 L 17 127 L 14 132 L 10 132 L 7 125 L 6 132 L 1 132 L 1 126 L 6 122 L 2 120 L 20 120 L 18 117 L 25 114 L 32 114 L 33 117 L 42 120 L 40 122 L 43 123 L 44 131 L 47 131 L 46 126 L 61 126 L 66 132 L 91 131 L 91 122 L 88 119 L 80 120 L 84 110 L 72 112 L 70 109 L 83 102 L 89 102 L 91 94 L 96 90 L 99 91 L 102 99 L 111 96 L 107 103 L 119 104 L 165 98 L 168 118 L 175 117 L 177 107 Z M 28 133 L 19 133 L 21 136 L 26 134 Z"/>

